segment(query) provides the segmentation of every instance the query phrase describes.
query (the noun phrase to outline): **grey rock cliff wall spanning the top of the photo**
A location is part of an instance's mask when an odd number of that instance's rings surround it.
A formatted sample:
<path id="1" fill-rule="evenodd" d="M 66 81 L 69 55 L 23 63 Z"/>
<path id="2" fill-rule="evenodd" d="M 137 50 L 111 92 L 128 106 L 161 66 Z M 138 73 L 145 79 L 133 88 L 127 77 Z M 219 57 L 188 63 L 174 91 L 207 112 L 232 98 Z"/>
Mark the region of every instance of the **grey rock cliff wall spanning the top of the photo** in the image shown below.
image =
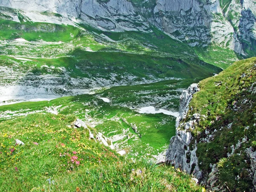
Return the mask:
<path id="1" fill-rule="evenodd" d="M 0 0 L 0 6 L 22 9 L 33 21 L 42 21 L 35 12 L 55 12 L 102 30 L 145 32 L 153 25 L 192 47 L 213 43 L 239 54 L 256 44 L 255 0 Z"/>

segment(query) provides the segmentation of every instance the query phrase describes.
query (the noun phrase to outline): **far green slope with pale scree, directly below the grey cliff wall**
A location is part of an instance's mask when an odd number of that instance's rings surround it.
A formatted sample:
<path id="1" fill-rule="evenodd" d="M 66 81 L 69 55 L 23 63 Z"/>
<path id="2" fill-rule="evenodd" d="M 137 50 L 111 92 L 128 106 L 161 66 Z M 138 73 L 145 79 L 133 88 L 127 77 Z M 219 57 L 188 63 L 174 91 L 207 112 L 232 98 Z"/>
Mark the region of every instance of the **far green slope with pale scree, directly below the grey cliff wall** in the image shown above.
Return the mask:
<path id="1" fill-rule="evenodd" d="M 88 25 L 8 18 L 0 20 L 0 103 L 77 95 L 106 86 L 206 78 L 238 59 L 218 46 L 195 51 L 154 27 L 150 33 L 104 32 Z"/>

